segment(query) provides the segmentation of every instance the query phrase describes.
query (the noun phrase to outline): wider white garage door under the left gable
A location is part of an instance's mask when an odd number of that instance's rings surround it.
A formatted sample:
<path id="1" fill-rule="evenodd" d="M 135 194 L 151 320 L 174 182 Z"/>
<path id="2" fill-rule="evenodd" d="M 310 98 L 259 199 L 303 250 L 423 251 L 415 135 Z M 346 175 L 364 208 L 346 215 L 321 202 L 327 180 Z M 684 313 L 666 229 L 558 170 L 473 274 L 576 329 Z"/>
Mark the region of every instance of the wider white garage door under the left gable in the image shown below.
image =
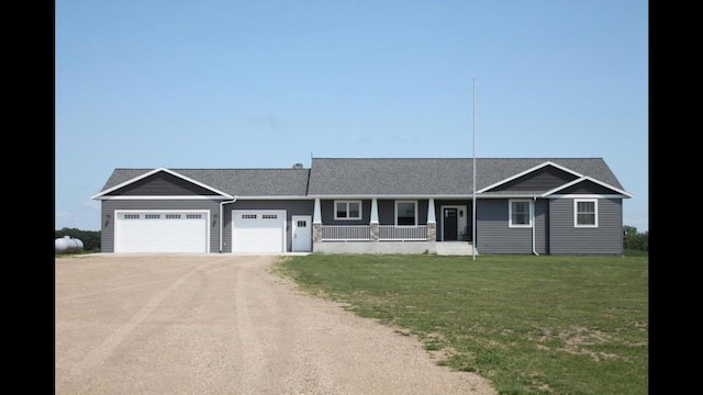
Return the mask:
<path id="1" fill-rule="evenodd" d="M 114 251 L 208 252 L 208 212 L 118 212 Z"/>

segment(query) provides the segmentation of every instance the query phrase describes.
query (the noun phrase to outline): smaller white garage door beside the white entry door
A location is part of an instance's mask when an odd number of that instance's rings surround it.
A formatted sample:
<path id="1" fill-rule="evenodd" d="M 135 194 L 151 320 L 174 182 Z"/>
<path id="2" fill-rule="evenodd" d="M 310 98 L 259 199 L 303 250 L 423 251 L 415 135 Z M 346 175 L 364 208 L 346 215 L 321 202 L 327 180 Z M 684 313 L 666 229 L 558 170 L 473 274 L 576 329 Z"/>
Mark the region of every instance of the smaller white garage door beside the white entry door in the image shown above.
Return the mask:
<path id="1" fill-rule="evenodd" d="M 232 252 L 283 252 L 284 210 L 232 211 Z"/>

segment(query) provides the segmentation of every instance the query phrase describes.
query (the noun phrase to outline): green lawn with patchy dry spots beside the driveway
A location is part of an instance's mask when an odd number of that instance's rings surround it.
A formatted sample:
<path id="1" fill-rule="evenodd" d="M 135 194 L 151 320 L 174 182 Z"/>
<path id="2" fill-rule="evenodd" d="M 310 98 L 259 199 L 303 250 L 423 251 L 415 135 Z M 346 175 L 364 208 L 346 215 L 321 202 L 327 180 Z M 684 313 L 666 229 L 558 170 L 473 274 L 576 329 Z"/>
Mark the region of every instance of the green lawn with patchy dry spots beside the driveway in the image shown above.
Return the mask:
<path id="1" fill-rule="evenodd" d="M 310 255 L 274 270 L 501 394 L 647 394 L 648 257 Z"/>

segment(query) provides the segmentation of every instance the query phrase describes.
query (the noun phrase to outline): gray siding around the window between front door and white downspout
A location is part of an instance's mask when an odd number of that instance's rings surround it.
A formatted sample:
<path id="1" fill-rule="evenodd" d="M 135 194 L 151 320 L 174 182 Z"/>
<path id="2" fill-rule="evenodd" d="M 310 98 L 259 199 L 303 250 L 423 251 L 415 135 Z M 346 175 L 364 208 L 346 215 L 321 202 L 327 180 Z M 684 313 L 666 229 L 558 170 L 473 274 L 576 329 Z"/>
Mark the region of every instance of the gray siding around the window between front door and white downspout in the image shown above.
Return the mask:
<path id="1" fill-rule="evenodd" d="M 476 202 L 477 249 L 487 253 L 532 253 L 532 228 L 510 228 L 506 199 Z"/>

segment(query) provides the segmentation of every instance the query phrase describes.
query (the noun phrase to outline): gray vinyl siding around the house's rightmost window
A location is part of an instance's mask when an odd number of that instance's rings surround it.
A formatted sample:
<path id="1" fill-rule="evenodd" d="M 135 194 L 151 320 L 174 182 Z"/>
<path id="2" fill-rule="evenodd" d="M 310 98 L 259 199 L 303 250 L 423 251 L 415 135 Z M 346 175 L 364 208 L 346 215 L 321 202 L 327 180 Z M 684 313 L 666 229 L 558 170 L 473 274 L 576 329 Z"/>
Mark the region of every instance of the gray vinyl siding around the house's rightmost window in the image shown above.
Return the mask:
<path id="1" fill-rule="evenodd" d="M 622 255 L 623 201 L 598 200 L 598 227 L 573 226 L 573 199 L 549 201 L 549 250 L 553 255 Z"/>

